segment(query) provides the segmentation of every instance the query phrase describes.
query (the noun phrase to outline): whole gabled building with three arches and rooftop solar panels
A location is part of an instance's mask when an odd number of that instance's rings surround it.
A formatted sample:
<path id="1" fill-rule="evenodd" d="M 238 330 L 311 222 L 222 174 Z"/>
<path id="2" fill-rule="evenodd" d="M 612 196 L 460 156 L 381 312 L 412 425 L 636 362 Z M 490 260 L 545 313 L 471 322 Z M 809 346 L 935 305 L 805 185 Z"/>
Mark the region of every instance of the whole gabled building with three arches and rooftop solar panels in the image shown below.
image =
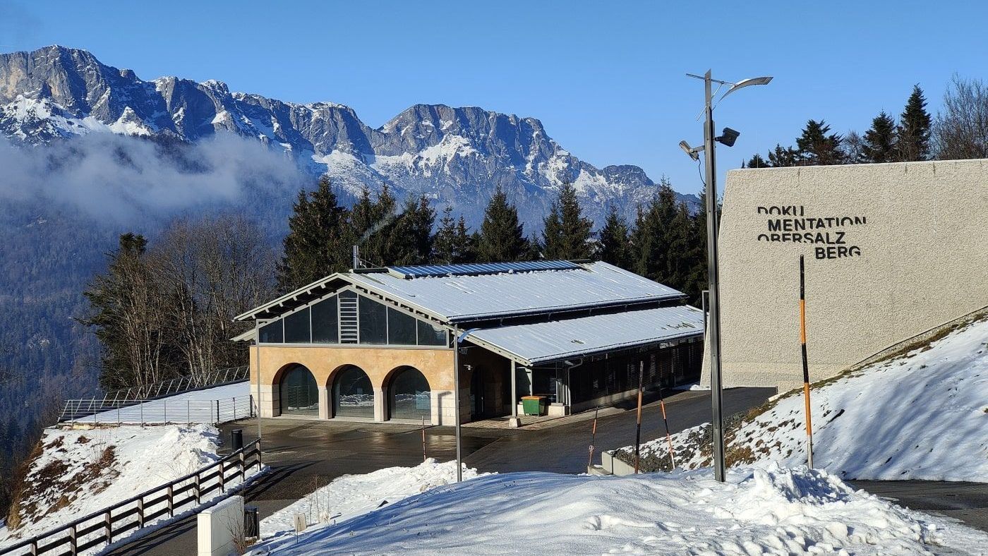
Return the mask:
<path id="1" fill-rule="evenodd" d="M 455 418 L 608 405 L 700 376 L 703 315 L 671 287 L 601 262 L 427 265 L 334 274 L 251 309 L 265 417 Z"/>

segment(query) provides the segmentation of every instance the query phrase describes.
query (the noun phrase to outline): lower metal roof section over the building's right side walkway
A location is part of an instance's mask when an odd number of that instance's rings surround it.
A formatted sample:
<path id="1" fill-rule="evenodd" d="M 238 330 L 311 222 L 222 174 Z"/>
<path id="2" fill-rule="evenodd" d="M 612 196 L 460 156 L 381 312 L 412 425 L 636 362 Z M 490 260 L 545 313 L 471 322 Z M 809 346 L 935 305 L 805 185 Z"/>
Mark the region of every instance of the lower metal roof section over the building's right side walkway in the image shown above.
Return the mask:
<path id="1" fill-rule="evenodd" d="M 475 330 L 465 339 L 532 366 L 660 344 L 702 332 L 702 311 L 682 305 Z"/>

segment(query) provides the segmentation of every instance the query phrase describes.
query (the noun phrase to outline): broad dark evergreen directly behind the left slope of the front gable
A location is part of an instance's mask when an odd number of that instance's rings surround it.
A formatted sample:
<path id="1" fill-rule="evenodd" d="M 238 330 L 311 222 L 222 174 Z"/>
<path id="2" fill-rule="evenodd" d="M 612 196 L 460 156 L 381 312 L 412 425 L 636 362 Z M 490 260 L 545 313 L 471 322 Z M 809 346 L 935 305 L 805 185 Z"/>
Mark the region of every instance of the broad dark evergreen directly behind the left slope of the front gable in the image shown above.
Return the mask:
<path id="1" fill-rule="evenodd" d="M 350 268 L 348 211 L 329 180 L 322 178 L 311 193 L 298 192 L 292 209 L 278 265 L 279 288 L 285 292 Z"/>

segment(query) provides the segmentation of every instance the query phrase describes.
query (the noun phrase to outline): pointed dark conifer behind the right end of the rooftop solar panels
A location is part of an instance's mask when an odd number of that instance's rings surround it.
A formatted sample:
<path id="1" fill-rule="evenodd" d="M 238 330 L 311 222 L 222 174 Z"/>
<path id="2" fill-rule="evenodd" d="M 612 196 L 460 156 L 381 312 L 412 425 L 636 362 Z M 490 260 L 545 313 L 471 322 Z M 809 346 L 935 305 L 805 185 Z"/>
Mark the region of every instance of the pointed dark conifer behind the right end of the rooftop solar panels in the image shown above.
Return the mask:
<path id="1" fill-rule="evenodd" d="M 589 259 L 591 229 L 594 222 L 583 217 L 576 189 L 564 183 L 559 197 L 544 219 L 542 256 L 549 260 Z"/>

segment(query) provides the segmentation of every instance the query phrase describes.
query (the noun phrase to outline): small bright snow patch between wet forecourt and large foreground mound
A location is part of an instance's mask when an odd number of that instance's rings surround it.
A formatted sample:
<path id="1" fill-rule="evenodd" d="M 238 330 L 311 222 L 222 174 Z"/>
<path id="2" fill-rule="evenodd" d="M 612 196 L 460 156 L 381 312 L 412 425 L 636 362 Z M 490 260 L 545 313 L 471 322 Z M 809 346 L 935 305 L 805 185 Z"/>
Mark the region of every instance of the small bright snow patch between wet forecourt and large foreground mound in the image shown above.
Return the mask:
<path id="1" fill-rule="evenodd" d="M 463 467 L 463 479 L 487 475 Z M 429 458 L 415 467 L 388 467 L 365 475 L 346 475 L 261 521 L 261 536 L 294 531 L 294 515 L 309 525 L 325 524 L 367 514 L 429 489 L 456 482 L 456 463 Z M 293 535 L 293 532 L 292 532 Z"/>

